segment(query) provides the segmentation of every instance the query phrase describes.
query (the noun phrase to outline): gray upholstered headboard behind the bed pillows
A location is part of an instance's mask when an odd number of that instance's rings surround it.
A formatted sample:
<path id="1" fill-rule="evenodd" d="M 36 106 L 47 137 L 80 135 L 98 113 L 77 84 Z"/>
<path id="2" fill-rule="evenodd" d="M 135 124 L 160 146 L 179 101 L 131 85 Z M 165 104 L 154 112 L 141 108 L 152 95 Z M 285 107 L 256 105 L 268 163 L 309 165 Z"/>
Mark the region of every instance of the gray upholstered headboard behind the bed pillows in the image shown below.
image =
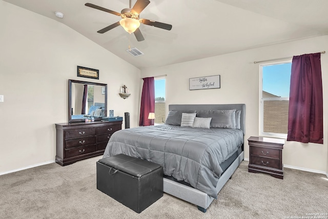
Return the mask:
<path id="1" fill-rule="evenodd" d="M 245 134 L 245 115 L 246 105 L 245 104 L 172 104 L 169 105 L 169 110 L 241 110 L 240 113 L 240 129 Z"/>

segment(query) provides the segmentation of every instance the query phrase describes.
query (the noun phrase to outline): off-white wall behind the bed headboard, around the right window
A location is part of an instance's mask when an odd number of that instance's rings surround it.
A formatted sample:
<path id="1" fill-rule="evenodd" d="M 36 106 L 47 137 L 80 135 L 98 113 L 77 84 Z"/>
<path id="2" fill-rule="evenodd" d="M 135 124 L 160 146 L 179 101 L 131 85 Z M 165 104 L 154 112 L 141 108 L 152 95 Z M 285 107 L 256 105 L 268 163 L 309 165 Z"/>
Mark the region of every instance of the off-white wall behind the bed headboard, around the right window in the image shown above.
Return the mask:
<path id="1" fill-rule="evenodd" d="M 166 104 L 246 104 L 245 158 L 249 158 L 247 139 L 259 134 L 259 64 L 273 58 L 319 51 L 328 52 L 328 36 L 250 49 L 158 68 L 142 69 L 142 77 L 167 74 Z M 287 142 L 283 164 L 317 172 L 327 172 L 328 53 L 321 55 L 324 144 Z M 221 75 L 221 88 L 189 90 L 189 78 Z"/>

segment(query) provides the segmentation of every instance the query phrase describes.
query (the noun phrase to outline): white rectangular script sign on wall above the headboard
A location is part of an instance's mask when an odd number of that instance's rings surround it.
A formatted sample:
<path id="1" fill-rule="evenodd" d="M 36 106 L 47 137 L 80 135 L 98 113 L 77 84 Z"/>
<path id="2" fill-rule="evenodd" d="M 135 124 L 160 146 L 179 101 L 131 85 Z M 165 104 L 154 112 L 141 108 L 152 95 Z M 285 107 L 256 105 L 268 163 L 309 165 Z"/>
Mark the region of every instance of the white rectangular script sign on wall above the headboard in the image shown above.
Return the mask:
<path id="1" fill-rule="evenodd" d="M 189 78 L 189 90 L 220 88 L 220 75 Z"/>

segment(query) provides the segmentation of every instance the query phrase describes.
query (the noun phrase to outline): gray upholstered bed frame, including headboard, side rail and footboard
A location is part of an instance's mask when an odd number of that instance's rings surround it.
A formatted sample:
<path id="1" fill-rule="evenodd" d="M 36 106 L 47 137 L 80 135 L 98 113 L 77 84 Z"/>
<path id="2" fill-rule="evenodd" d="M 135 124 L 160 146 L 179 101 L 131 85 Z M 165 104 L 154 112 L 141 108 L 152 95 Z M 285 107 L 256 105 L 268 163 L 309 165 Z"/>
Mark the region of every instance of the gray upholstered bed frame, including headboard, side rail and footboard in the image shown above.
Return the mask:
<path id="1" fill-rule="evenodd" d="M 169 105 L 169 110 L 241 110 L 240 113 L 240 129 L 245 134 L 245 104 L 214 104 L 214 105 Z M 239 156 L 235 159 L 235 161 L 228 167 L 226 171 L 222 173 L 219 178 L 218 184 L 216 186 L 216 191 L 222 189 L 224 184 L 228 182 L 231 178 L 232 174 L 238 168 L 239 164 L 244 159 L 244 152 L 242 151 Z M 213 197 L 208 194 L 201 192 L 195 188 L 190 186 L 186 186 L 174 181 L 171 181 L 167 178 L 163 178 L 163 191 L 170 195 L 180 198 L 181 200 L 185 200 L 189 203 L 192 203 L 197 206 L 197 208 L 206 212 L 207 208 L 210 206 Z"/>

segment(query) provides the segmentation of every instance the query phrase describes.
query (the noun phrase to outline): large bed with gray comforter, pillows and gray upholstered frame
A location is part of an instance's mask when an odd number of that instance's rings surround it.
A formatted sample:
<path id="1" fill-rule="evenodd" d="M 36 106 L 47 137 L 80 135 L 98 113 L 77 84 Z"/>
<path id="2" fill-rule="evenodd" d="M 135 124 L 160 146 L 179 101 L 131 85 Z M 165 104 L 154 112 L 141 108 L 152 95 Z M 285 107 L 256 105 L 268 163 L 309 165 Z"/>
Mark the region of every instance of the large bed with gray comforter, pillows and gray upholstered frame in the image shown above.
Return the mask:
<path id="1" fill-rule="evenodd" d="M 103 157 L 124 153 L 162 165 L 163 191 L 206 212 L 243 160 L 244 133 L 244 104 L 169 105 L 166 124 L 115 132 Z"/>

